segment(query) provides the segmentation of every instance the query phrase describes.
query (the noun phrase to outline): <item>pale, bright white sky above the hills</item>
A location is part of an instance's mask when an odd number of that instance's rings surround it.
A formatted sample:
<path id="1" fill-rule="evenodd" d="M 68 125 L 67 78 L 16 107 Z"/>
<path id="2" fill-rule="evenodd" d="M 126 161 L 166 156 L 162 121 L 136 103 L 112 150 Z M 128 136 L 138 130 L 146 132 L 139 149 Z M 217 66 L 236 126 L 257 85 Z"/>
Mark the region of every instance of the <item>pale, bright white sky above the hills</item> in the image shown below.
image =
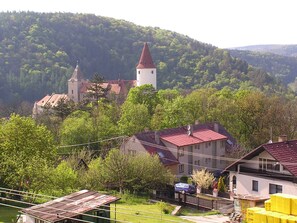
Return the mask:
<path id="1" fill-rule="evenodd" d="M 297 44 L 296 0 L 1 0 L 0 11 L 90 13 L 220 48 Z"/>

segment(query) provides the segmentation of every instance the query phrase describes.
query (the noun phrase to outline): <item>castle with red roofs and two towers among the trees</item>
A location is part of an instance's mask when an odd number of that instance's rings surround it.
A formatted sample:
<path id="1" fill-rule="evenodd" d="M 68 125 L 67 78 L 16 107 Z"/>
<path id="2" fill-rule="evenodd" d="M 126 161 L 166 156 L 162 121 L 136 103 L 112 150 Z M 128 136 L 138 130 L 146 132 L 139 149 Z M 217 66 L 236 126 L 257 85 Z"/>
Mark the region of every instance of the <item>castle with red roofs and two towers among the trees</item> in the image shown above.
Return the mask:
<path id="1" fill-rule="evenodd" d="M 55 107 L 60 100 L 72 100 L 75 103 L 82 101 L 92 83 L 84 78 L 83 73 L 77 64 L 71 78 L 68 80 L 67 94 L 46 95 L 34 103 L 33 117 L 43 112 L 44 107 Z M 126 98 L 130 88 L 151 84 L 157 89 L 157 69 L 154 65 L 149 47 L 144 43 L 138 65 L 136 66 L 136 80 L 110 80 L 102 84 L 102 87 L 109 88 L 110 94 L 119 100 Z"/>

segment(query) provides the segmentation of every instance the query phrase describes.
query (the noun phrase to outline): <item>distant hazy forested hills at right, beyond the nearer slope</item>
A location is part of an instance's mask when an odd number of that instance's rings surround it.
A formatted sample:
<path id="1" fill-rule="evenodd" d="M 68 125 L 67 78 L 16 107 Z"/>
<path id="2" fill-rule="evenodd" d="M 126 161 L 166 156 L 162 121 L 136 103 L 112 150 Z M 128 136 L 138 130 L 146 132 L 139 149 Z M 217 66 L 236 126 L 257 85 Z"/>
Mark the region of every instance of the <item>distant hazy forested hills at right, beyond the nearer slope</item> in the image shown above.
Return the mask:
<path id="1" fill-rule="evenodd" d="M 296 49 L 294 51 L 294 46 L 292 46 L 292 53 L 297 53 Z M 257 52 L 256 49 L 254 49 L 255 51 L 230 50 L 230 54 L 281 79 L 283 83 L 290 84 L 292 89 L 296 91 L 296 83 L 294 82 L 297 76 L 297 57 L 285 56 L 281 53 L 276 54 L 277 52 L 262 52 L 264 49 L 262 51 L 259 49 Z"/>

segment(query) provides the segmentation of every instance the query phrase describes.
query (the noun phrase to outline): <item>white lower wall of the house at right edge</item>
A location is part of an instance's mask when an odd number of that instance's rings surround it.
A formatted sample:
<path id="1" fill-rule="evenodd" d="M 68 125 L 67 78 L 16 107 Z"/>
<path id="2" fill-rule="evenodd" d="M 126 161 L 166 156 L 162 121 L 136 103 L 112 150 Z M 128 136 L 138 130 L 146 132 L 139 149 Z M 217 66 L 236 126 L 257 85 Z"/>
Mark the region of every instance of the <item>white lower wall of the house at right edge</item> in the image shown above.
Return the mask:
<path id="1" fill-rule="evenodd" d="M 233 176 L 236 176 L 236 193 L 241 195 L 257 195 L 269 197 L 269 184 L 282 185 L 282 193 L 297 195 L 297 185 L 290 181 L 278 179 L 266 179 L 256 175 L 247 175 L 237 172 L 230 172 L 230 184 L 232 185 Z M 252 181 L 258 181 L 258 191 L 252 190 Z M 232 190 L 232 188 L 230 188 Z"/>

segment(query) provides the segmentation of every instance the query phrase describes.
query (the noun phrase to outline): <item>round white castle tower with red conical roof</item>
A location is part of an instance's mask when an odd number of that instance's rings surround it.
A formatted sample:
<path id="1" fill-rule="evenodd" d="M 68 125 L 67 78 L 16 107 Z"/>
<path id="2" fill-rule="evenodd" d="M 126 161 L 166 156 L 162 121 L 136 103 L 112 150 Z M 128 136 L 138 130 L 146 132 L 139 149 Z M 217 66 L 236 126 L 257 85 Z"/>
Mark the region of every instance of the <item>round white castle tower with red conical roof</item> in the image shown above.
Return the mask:
<path id="1" fill-rule="evenodd" d="M 154 65 L 147 43 L 141 52 L 139 63 L 136 67 L 137 86 L 151 84 L 157 89 L 157 69 Z"/>

